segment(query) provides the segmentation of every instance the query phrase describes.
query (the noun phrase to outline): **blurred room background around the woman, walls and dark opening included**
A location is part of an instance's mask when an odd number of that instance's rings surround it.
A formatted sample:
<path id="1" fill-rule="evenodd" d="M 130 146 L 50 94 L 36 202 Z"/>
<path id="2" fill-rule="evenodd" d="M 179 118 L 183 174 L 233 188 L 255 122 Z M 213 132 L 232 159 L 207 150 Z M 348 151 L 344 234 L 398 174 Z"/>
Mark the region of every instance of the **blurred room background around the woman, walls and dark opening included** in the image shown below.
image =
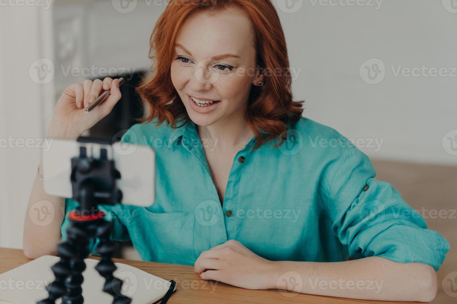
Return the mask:
<path id="1" fill-rule="evenodd" d="M 168 2 L 0 2 L 0 247 L 22 247 L 41 139 L 67 86 L 127 80 L 87 134 L 111 139 L 141 115 L 134 87 L 150 72 L 149 36 Z M 272 2 L 303 115 L 353 140 L 451 243 L 432 303 L 457 303 L 457 0 Z"/>

